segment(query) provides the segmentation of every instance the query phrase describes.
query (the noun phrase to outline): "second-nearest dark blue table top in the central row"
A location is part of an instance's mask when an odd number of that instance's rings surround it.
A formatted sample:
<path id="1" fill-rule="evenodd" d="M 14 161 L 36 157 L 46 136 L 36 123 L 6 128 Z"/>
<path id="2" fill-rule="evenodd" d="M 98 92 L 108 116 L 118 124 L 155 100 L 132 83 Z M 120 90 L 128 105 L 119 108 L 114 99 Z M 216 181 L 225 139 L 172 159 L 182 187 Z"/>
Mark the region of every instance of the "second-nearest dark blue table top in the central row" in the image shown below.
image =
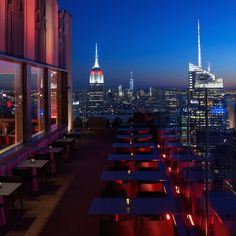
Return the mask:
<path id="1" fill-rule="evenodd" d="M 158 171 L 141 170 L 141 171 L 125 171 L 125 170 L 106 170 L 101 175 L 101 180 L 130 180 L 130 181 L 165 181 L 166 176 L 162 168 Z"/>

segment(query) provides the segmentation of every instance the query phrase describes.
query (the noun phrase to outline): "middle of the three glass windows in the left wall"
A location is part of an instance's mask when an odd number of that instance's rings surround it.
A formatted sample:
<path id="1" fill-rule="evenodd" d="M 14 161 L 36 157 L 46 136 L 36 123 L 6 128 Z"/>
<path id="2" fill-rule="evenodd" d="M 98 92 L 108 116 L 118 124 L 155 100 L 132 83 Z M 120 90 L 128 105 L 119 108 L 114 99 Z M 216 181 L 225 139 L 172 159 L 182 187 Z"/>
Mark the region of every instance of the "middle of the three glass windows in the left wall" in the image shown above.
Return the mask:
<path id="1" fill-rule="evenodd" d="M 43 69 L 31 67 L 32 135 L 45 130 L 45 95 Z"/>

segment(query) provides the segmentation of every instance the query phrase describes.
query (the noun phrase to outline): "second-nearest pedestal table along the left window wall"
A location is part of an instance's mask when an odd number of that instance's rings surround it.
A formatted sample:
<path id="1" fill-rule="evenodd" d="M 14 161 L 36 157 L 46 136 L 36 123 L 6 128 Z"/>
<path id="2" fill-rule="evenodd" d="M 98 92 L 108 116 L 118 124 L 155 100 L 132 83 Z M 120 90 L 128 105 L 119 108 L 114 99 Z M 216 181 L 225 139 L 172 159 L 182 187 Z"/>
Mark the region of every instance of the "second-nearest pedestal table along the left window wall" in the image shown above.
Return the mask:
<path id="1" fill-rule="evenodd" d="M 48 160 L 25 160 L 16 166 L 16 168 L 30 168 L 32 174 L 32 192 L 38 192 L 37 169 L 44 168 L 49 163 Z"/>

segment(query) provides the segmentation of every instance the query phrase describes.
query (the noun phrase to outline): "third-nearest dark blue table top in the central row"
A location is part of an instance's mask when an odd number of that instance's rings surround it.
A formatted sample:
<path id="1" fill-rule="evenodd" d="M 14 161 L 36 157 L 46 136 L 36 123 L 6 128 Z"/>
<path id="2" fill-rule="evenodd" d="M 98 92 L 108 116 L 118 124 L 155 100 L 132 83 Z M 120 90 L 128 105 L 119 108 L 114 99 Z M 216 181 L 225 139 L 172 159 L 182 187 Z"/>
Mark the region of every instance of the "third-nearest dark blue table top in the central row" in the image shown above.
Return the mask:
<path id="1" fill-rule="evenodd" d="M 159 161 L 160 154 L 152 153 L 152 154 L 111 154 L 108 156 L 109 161 Z"/>

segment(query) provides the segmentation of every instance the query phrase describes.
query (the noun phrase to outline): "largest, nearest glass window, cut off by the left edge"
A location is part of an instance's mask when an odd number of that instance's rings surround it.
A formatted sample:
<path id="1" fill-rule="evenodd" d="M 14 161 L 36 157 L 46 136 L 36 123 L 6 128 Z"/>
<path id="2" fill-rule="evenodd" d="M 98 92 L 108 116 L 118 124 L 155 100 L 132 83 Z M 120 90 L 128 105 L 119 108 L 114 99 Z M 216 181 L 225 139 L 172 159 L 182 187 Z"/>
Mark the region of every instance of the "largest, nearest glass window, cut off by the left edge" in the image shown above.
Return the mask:
<path id="1" fill-rule="evenodd" d="M 0 60 L 0 153 L 23 140 L 21 65 Z"/>

